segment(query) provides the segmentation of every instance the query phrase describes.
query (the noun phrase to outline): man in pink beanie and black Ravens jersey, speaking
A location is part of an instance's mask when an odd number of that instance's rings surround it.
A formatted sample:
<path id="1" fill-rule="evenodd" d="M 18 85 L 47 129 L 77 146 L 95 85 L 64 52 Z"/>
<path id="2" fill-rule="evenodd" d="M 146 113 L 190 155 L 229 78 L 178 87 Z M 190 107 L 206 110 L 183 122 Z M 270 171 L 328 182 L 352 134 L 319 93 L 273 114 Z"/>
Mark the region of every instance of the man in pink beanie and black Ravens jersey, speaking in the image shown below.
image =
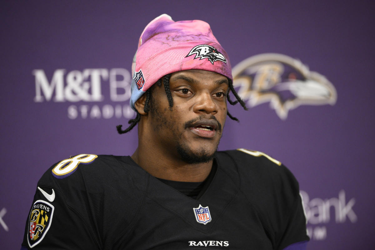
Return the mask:
<path id="1" fill-rule="evenodd" d="M 130 156 L 80 154 L 39 180 L 24 249 L 305 249 L 299 186 L 258 151 L 216 152 L 245 103 L 203 21 L 148 24 L 133 60 Z M 236 101 L 229 98 L 229 91 Z"/>

